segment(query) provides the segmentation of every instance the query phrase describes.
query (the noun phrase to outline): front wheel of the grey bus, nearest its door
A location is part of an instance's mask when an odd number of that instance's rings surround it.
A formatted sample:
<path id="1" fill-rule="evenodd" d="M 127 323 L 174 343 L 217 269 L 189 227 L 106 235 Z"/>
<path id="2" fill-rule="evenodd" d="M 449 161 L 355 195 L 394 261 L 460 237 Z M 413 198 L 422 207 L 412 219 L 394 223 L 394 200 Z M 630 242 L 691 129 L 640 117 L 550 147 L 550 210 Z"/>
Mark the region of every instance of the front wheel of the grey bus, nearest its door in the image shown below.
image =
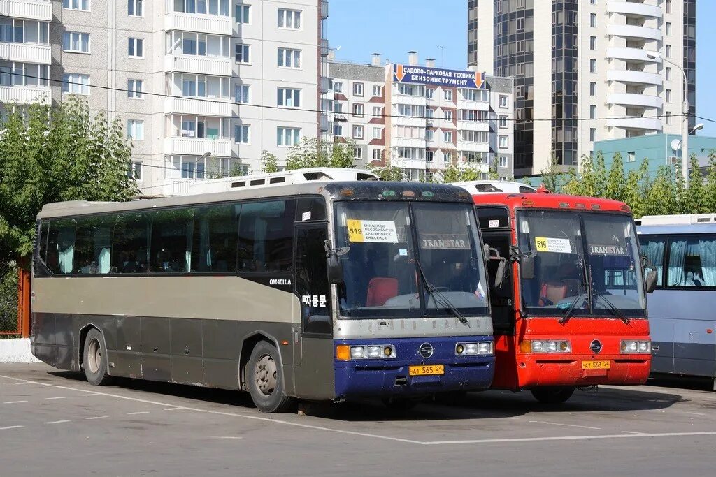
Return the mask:
<path id="1" fill-rule="evenodd" d="M 246 364 L 246 384 L 251 400 L 263 413 L 285 413 L 296 403 L 286 395 L 279 350 L 266 341 L 259 341 L 251 350 Z"/>

